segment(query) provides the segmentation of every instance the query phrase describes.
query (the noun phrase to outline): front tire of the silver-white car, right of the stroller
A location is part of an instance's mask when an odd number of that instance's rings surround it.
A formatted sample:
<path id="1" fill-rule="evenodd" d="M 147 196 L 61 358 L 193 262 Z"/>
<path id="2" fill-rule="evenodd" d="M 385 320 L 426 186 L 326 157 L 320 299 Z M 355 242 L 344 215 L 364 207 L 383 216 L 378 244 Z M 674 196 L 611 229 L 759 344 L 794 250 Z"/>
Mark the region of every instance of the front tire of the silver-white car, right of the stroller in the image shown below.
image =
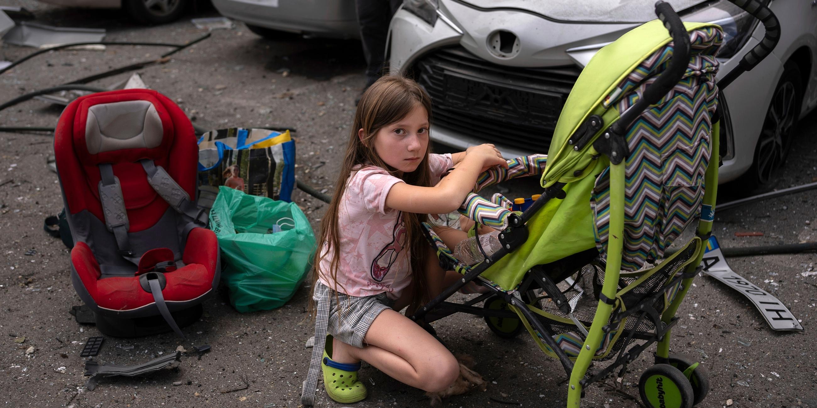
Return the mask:
<path id="1" fill-rule="evenodd" d="M 801 83 L 800 68 L 788 61 L 766 110 L 752 166 L 735 183 L 743 192 L 763 192 L 775 186 L 776 175 L 792 148 L 792 132 L 802 104 Z"/>

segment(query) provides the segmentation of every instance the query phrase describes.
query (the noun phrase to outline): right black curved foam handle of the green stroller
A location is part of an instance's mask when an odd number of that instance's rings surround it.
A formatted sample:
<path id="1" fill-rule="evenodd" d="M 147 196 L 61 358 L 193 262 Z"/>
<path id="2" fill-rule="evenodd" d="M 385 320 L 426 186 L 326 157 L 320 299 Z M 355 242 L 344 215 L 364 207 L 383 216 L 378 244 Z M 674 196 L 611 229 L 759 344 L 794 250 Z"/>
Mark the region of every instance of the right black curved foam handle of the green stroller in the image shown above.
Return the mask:
<path id="1" fill-rule="evenodd" d="M 720 89 L 729 85 L 734 81 L 734 78 L 738 78 L 741 73 L 751 71 L 757 64 L 760 64 L 761 61 L 766 58 L 766 55 L 771 54 L 771 51 L 775 49 L 777 42 L 780 40 L 780 23 L 775 13 L 773 13 L 769 7 L 766 7 L 757 0 L 729 1 L 757 18 L 757 20 L 761 20 L 763 27 L 766 28 L 766 35 L 763 36 L 763 40 L 759 42 L 757 46 L 748 51 L 746 55 L 743 55 L 737 67 L 724 75 L 721 81 L 718 81 L 717 86 Z"/>

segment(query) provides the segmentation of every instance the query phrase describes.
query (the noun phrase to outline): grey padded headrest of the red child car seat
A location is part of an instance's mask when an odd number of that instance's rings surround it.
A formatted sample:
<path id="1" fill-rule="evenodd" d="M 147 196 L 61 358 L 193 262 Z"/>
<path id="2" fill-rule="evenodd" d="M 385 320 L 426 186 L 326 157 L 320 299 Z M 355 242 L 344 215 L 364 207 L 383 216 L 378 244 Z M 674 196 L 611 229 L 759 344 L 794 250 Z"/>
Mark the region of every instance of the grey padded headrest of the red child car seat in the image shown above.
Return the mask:
<path id="1" fill-rule="evenodd" d="M 162 136 L 162 119 L 150 101 L 125 100 L 88 108 L 85 123 L 88 153 L 153 149 L 162 144 Z"/>

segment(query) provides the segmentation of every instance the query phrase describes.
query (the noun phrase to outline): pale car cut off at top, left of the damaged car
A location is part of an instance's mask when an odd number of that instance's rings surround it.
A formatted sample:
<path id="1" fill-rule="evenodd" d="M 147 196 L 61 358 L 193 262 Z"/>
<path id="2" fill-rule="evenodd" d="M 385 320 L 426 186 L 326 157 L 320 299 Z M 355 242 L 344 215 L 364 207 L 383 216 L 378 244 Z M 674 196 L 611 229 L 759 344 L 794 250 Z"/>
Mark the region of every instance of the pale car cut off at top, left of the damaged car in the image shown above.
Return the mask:
<path id="1" fill-rule="evenodd" d="M 385 0 L 383 0 L 385 1 Z M 222 16 L 261 37 L 280 32 L 324 38 L 360 38 L 355 0 L 212 0 Z"/>

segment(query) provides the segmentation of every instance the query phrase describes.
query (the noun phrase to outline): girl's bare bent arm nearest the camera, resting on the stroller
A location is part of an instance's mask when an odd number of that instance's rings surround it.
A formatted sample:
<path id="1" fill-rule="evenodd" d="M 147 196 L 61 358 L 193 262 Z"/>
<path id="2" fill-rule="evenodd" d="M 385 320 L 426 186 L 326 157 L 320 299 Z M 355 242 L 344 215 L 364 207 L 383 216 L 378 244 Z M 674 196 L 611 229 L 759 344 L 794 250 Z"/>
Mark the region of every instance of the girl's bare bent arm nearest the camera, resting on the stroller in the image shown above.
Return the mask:
<path id="1" fill-rule="evenodd" d="M 480 144 L 468 149 L 457 168 L 434 187 L 394 184 L 386 195 L 386 206 L 417 214 L 448 214 L 456 211 L 474 188 L 484 166 L 507 166 L 493 144 Z"/>

